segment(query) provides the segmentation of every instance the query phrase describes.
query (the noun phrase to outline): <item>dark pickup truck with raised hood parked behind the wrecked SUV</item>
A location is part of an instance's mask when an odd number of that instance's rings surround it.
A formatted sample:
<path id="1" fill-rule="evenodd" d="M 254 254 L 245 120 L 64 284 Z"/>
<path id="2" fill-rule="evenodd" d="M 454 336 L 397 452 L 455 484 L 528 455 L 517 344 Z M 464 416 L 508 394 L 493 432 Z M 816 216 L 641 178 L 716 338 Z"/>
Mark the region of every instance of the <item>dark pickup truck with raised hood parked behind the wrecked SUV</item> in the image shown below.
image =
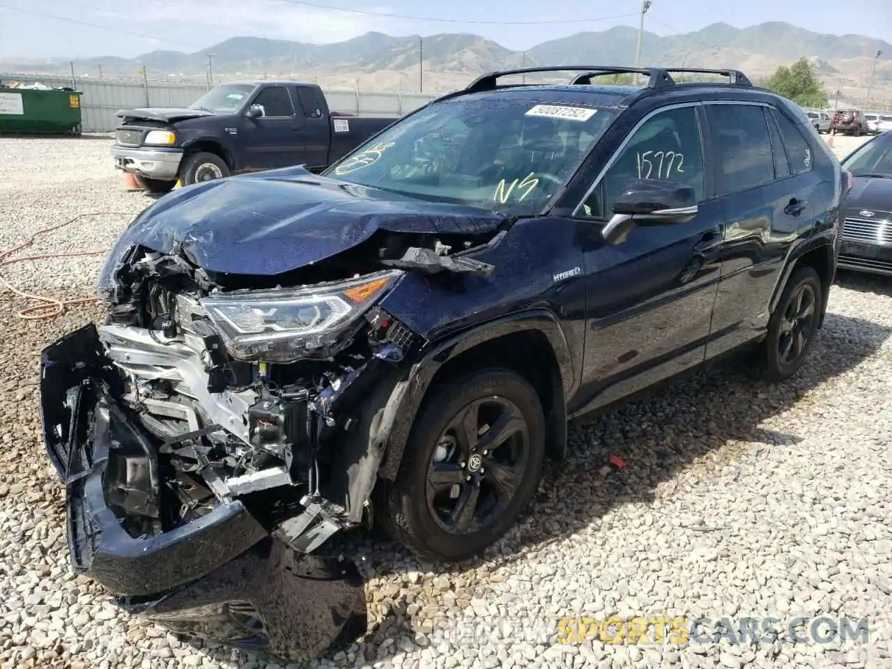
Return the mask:
<path id="1" fill-rule="evenodd" d="M 152 193 L 292 165 L 318 172 L 396 120 L 329 111 L 318 85 L 294 81 L 221 84 L 186 109 L 117 115 L 115 167 Z"/>

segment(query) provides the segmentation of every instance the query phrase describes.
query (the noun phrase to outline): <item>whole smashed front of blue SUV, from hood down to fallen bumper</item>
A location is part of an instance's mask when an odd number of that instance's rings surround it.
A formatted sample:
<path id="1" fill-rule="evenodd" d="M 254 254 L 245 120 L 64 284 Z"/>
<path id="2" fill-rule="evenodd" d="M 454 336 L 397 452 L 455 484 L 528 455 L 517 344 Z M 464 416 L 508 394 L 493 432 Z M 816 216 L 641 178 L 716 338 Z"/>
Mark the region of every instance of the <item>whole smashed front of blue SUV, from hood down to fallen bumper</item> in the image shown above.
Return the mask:
<path id="1" fill-rule="evenodd" d="M 513 219 L 296 172 L 137 216 L 96 285 L 105 321 L 45 347 L 40 392 L 75 571 L 174 631 L 305 659 L 365 630 L 357 566 L 319 548 L 395 475 L 430 282 L 489 277 L 472 256 Z"/>

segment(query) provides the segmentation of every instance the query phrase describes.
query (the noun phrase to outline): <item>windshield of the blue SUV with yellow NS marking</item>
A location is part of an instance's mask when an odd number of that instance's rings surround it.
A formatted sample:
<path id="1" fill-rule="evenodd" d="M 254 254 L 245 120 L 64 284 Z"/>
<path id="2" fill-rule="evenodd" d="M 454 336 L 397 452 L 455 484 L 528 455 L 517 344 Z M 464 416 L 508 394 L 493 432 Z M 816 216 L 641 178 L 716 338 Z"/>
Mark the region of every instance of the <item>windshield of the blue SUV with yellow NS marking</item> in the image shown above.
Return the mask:
<path id="1" fill-rule="evenodd" d="M 541 211 L 615 111 L 524 97 L 436 103 L 324 173 L 434 202 L 516 214 Z"/>

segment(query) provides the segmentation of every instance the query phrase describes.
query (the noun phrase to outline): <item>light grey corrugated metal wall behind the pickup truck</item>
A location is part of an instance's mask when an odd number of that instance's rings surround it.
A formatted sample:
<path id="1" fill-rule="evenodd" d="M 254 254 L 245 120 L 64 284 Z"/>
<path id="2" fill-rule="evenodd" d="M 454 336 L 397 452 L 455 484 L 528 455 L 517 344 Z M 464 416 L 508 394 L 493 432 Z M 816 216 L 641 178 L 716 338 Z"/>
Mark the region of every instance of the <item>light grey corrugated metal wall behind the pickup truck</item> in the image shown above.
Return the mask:
<path id="1" fill-rule="evenodd" d="M 70 77 L 42 77 L 2 73 L 0 80 L 40 82 L 50 87 L 72 87 Z M 80 109 L 84 132 L 111 132 L 120 119 L 115 112 L 128 107 L 185 107 L 207 91 L 204 84 L 149 80 L 138 81 L 75 78 L 73 87 L 82 92 Z M 414 111 L 434 99 L 419 93 L 369 93 L 366 91 L 328 90 L 323 87 L 328 106 L 335 111 L 352 111 L 364 116 L 398 117 Z"/>

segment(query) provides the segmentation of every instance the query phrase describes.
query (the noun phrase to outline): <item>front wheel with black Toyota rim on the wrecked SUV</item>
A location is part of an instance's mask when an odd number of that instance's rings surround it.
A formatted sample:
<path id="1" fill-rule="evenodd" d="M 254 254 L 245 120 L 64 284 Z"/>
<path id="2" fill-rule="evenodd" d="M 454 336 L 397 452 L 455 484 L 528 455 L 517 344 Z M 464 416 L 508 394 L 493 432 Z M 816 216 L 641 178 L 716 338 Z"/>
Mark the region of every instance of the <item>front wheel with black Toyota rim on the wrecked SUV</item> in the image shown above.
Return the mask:
<path id="1" fill-rule="evenodd" d="M 463 414 L 470 416 L 469 410 L 477 417 L 474 429 L 454 431 L 450 425 Z M 514 426 L 516 432 L 496 441 L 493 448 L 486 441 L 488 433 L 480 435 L 484 425 Z M 471 438 L 466 440 L 463 434 Z M 475 434 L 476 447 L 467 443 L 474 441 Z M 533 386 L 507 369 L 475 371 L 425 398 L 396 481 L 380 482 L 383 508 L 379 517 L 384 529 L 419 558 L 435 562 L 472 558 L 498 541 L 527 507 L 539 483 L 544 456 L 545 418 Z M 439 484 L 430 480 L 437 463 Z M 512 468 L 515 485 L 513 494 L 508 494 L 495 482 L 499 478 L 508 485 Z M 453 497 L 457 491 L 458 497 Z M 470 515 L 458 513 L 459 507 L 469 508 L 472 500 L 475 507 Z M 475 517 L 475 512 L 480 515 Z"/>

